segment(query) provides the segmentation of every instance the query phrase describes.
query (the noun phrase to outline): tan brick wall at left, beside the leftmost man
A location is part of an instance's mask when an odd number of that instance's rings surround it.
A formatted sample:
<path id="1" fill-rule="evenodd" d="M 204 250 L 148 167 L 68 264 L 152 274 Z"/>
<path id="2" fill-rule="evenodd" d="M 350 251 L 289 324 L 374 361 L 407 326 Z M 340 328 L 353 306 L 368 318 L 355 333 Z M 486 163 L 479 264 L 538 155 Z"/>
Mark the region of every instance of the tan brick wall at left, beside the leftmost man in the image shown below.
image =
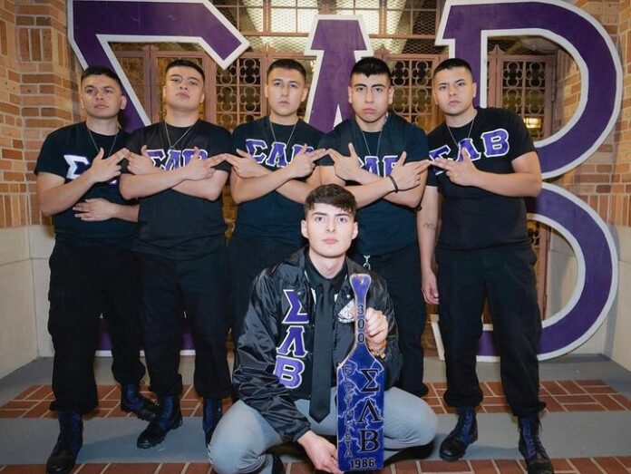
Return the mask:
<path id="1" fill-rule="evenodd" d="M 33 169 L 45 136 L 78 119 L 63 0 L 0 6 L 0 227 L 44 221 Z"/>

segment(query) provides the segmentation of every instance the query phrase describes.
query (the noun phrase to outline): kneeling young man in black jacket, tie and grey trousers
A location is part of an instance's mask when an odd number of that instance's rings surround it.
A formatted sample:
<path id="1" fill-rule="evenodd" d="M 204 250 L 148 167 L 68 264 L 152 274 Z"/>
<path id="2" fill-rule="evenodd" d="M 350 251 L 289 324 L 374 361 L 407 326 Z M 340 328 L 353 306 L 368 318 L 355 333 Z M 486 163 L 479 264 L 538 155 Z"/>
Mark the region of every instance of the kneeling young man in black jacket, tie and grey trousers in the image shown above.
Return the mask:
<path id="1" fill-rule="evenodd" d="M 335 367 L 354 343 L 348 276 L 366 272 L 346 257 L 357 236 L 356 208 L 354 196 L 338 185 L 314 189 L 301 223 L 309 245 L 257 276 L 238 341 L 234 383 L 239 401 L 209 444 L 218 473 L 283 472 L 280 459 L 266 451 L 286 441 L 302 445 L 315 469 L 341 472 L 335 446 L 322 435 L 335 435 Z M 425 401 L 393 388 L 402 365 L 393 303 L 383 278 L 371 276 L 366 340 L 371 351 L 384 353 L 387 459 L 432 441 L 437 420 Z M 323 318 L 333 325 L 333 340 L 315 343 L 315 327 Z M 323 364 L 321 355 L 327 352 Z M 330 374 L 324 385 L 318 382 L 323 372 Z"/>

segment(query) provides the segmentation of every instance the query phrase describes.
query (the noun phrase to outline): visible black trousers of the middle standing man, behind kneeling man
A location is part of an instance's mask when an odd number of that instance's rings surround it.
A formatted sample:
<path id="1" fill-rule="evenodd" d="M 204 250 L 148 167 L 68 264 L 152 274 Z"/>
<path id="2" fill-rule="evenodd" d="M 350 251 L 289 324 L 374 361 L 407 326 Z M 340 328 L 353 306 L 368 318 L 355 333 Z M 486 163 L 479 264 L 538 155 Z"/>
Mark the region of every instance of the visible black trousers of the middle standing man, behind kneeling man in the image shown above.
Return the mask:
<path id="1" fill-rule="evenodd" d="M 269 238 L 233 235 L 228 242 L 230 264 L 230 329 L 237 348 L 243 320 L 248 311 L 252 282 L 266 268 L 282 262 L 300 246 Z M 236 351 L 235 351 L 236 353 Z"/>

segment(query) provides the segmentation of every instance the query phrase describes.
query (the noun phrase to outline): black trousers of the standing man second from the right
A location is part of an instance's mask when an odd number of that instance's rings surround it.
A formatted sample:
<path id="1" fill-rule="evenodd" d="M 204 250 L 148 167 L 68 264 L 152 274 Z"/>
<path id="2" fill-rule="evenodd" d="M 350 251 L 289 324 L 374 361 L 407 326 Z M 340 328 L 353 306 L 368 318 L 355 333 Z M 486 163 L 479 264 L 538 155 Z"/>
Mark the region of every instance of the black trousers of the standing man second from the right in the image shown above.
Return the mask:
<path id="1" fill-rule="evenodd" d="M 361 254 L 351 256 L 364 265 Z M 399 329 L 399 349 L 403 354 L 403 369 L 395 386 L 422 397 L 428 392 L 422 382 L 422 331 L 425 327 L 425 302 L 422 299 L 421 257 L 416 243 L 401 250 L 368 258 L 370 268 L 383 276 L 393 299 L 394 319 Z"/>

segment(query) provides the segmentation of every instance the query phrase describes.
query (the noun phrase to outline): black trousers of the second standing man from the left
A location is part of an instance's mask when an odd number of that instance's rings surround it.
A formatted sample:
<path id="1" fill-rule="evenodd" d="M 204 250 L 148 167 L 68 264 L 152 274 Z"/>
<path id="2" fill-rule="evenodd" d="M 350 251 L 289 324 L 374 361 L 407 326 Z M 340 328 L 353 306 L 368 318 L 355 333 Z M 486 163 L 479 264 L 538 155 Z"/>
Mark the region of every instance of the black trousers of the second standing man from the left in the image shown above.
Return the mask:
<path id="1" fill-rule="evenodd" d="M 182 391 L 180 349 L 186 312 L 195 344 L 195 390 L 204 398 L 228 396 L 226 247 L 192 260 L 141 253 L 138 258 L 142 342 L 151 392 L 165 397 Z"/>

